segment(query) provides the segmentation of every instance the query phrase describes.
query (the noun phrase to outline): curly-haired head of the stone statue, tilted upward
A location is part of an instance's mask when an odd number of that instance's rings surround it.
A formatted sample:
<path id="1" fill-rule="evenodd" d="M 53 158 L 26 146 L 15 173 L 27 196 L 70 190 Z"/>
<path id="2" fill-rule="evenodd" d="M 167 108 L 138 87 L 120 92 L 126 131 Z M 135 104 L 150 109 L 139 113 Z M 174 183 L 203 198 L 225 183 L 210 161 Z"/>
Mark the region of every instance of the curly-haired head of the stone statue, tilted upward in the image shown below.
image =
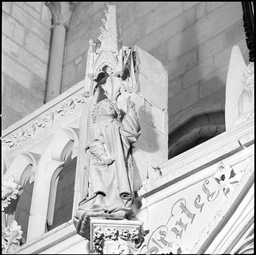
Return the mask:
<path id="1" fill-rule="evenodd" d="M 99 117 L 116 118 L 119 121 L 121 115 L 117 105 L 113 101 L 104 99 L 100 101 L 93 110 L 93 122 L 97 122 Z"/>

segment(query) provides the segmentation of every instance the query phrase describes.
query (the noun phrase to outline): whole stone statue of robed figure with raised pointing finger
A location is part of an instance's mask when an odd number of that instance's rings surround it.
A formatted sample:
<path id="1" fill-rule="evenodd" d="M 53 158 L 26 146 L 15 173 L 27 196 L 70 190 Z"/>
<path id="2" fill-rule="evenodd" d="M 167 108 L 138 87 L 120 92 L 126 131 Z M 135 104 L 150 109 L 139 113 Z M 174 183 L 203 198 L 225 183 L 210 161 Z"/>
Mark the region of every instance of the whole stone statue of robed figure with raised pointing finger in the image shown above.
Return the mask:
<path id="1" fill-rule="evenodd" d="M 130 147 L 141 133 L 135 104 L 130 96 L 122 122 L 117 104 L 109 99 L 94 106 L 92 114 L 90 111 L 86 114 L 91 117 L 92 124 L 88 126 L 88 120 L 85 122 L 83 197 L 74 216 L 77 233 L 85 238 L 90 217 L 115 220 L 136 218 L 131 208 L 133 168 Z"/>

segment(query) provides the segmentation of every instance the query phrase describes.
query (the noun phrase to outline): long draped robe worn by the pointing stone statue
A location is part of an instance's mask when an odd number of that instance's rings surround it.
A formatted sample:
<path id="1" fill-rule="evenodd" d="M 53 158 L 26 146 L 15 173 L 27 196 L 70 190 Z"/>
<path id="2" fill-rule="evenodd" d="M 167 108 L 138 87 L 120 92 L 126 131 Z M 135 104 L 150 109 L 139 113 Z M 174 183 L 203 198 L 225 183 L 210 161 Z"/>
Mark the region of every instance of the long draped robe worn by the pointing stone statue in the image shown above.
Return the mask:
<path id="1" fill-rule="evenodd" d="M 99 117 L 98 121 L 90 126 L 85 145 L 85 150 L 89 150 L 88 194 L 85 194 L 84 200 L 80 202 L 76 218 L 86 211 L 95 211 L 96 207 L 106 206 L 111 213 L 116 209 L 131 206 L 133 172 L 129 166 L 130 145 L 137 141 L 140 133 L 137 114 L 133 109 L 127 111 L 122 122 Z M 108 167 L 99 164 L 102 154 L 111 157 L 114 162 Z M 103 193 L 105 197 L 102 204 L 95 205 L 98 193 Z"/>

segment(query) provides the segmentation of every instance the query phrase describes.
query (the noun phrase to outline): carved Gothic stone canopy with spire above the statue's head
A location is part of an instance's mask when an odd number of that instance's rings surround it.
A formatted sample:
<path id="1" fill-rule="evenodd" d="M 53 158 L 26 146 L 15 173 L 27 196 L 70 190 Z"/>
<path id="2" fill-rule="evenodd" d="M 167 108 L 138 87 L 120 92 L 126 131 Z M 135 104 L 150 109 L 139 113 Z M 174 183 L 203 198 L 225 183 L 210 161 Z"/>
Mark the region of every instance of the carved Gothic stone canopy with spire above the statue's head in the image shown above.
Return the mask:
<path id="1" fill-rule="evenodd" d="M 117 100 L 125 90 L 137 91 L 131 48 L 123 46 L 119 10 L 116 5 L 105 3 L 106 19 L 101 22 L 101 34 L 97 41 L 89 40 L 87 53 L 85 94 L 94 95 L 101 87 L 106 97 Z"/>

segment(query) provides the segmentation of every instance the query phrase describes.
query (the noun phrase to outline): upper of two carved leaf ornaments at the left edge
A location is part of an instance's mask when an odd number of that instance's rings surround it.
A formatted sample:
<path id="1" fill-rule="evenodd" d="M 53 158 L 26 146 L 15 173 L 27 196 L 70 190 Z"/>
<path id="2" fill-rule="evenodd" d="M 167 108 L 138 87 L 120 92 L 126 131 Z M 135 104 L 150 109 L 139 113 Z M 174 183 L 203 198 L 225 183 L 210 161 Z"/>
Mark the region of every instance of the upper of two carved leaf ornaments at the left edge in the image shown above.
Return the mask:
<path id="1" fill-rule="evenodd" d="M 11 199 L 16 199 L 20 185 L 14 182 L 14 177 L 10 175 L 2 181 L 2 212 L 11 203 Z"/>

